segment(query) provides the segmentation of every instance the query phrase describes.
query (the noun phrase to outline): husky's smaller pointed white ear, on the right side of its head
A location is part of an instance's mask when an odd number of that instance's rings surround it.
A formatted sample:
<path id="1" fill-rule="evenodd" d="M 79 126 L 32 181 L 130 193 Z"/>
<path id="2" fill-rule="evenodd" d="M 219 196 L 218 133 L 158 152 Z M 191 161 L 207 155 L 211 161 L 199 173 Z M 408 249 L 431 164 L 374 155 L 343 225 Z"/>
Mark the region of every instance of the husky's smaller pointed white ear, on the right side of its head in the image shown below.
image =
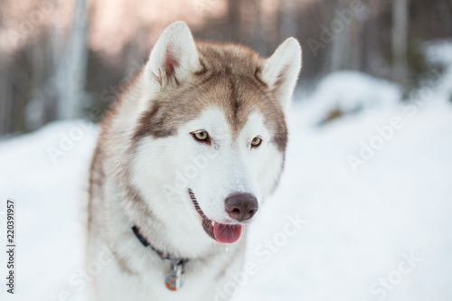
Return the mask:
<path id="1" fill-rule="evenodd" d="M 284 110 L 289 108 L 300 69 L 301 46 L 294 38 L 288 38 L 279 45 L 262 66 L 261 78 L 274 92 Z"/>

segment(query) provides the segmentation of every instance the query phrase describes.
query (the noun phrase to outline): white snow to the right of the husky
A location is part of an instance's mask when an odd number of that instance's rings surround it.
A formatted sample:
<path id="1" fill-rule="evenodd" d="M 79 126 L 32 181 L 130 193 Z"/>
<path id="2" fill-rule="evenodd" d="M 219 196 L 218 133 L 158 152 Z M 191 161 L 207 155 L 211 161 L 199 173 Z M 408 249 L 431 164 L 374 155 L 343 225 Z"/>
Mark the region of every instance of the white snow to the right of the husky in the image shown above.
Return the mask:
<path id="1" fill-rule="evenodd" d="M 393 116 L 405 126 L 353 173 L 347 156 Z M 297 123 L 278 192 L 251 230 L 249 260 L 260 272 L 234 300 L 450 300 L 451 106 L 413 118 L 369 114 L 316 131 Z M 287 214 L 306 225 L 264 263 L 256 246 L 284 233 Z M 387 296 L 372 295 L 380 277 L 399 282 L 393 270 L 411 252 L 421 262 Z"/>

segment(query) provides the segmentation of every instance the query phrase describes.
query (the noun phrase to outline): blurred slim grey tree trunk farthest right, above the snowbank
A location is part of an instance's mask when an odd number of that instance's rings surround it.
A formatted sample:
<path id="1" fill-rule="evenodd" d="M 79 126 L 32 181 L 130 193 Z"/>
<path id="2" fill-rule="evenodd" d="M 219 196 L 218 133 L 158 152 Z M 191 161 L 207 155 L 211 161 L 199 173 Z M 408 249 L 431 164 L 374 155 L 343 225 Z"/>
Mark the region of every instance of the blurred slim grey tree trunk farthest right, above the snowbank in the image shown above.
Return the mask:
<path id="1" fill-rule="evenodd" d="M 407 77 L 407 38 L 409 0 L 392 1 L 392 78 L 403 81 Z"/>

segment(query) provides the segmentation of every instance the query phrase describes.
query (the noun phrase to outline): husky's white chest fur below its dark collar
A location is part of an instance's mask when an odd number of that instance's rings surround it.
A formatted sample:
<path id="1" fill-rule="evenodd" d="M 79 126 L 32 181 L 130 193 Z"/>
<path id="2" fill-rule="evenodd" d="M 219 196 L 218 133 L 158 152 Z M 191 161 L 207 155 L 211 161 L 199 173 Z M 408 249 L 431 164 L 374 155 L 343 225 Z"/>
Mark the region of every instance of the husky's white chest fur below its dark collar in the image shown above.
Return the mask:
<path id="1" fill-rule="evenodd" d="M 243 259 L 242 249 L 235 249 L 213 259 L 191 260 L 184 267 L 184 285 L 177 290 L 171 290 L 167 287 L 166 280 L 172 271 L 172 262 L 155 260 L 153 255 L 148 254 L 149 260 L 128 258 L 131 268 L 128 272 L 115 260 L 98 278 L 100 299 L 213 300 L 216 295 L 223 294 L 232 277 L 240 272 Z"/>

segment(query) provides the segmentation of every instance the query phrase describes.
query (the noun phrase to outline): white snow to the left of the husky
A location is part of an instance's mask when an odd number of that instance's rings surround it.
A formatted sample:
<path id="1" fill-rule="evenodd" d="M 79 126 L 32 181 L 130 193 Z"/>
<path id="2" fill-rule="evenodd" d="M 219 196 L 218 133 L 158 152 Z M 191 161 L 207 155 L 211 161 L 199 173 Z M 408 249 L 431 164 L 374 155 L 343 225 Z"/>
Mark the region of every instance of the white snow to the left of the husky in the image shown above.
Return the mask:
<path id="1" fill-rule="evenodd" d="M 2 277 L 1 300 L 70 300 L 74 292 L 69 277 L 82 267 L 84 192 L 95 127 L 80 127 L 80 121 L 58 122 L 33 134 L 0 144 L 0 211 L 7 198 L 15 201 L 16 292 L 5 292 Z M 82 128 L 85 128 L 83 131 Z M 47 148 L 60 147 L 61 134 L 83 133 L 68 145 L 56 164 Z M 5 215 L 0 213 L 0 240 L 5 247 Z M 3 248 L 2 248 L 3 249 Z M 6 256 L 0 253 L 2 275 Z M 75 296 L 75 294 L 74 294 Z"/>

